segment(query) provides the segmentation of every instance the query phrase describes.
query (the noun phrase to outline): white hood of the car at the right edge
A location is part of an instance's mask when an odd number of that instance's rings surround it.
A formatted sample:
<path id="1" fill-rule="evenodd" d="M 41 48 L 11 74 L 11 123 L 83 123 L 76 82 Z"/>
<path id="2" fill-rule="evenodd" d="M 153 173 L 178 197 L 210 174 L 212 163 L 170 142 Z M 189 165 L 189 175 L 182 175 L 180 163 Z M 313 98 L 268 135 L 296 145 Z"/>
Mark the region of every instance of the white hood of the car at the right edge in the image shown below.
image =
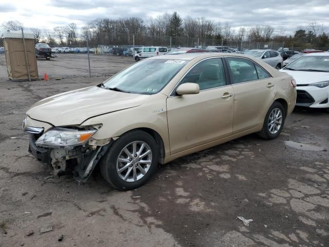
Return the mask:
<path id="1" fill-rule="evenodd" d="M 329 80 L 329 72 L 294 71 L 288 69 L 280 69 L 280 72 L 293 76 L 297 85 Z"/>

